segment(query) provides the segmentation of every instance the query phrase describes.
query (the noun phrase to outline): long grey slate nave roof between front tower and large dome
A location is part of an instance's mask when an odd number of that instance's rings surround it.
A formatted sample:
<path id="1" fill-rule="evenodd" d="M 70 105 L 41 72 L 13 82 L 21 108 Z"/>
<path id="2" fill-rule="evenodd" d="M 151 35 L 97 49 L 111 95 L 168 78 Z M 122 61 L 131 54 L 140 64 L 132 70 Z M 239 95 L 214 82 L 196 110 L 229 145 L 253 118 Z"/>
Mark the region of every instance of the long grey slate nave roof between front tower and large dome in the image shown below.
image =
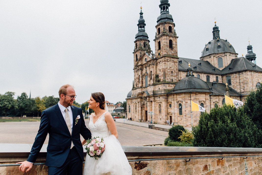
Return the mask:
<path id="1" fill-rule="evenodd" d="M 205 73 L 216 73 L 221 74 L 221 70 L 212 66 L 208 61 L 195 60 L 189 58 L 178 59 L 178 70 L 187 71 L 188 62 L 193 72 L 205 72 Z"/>

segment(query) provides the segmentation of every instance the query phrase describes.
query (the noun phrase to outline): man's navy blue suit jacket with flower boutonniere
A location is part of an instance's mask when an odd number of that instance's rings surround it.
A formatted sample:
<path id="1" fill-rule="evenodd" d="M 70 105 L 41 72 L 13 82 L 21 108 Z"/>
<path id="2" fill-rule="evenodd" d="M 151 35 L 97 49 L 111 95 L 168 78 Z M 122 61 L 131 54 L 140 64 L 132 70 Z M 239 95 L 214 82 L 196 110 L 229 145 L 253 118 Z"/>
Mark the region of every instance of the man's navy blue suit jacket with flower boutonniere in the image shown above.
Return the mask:
<path id="1" fill-rule="evenodd" d="M 88 140 L 91 138 L 91 132 L 85 126 L 81 108 L 71 106 L 71 109 L 73 113 L 72 136 L 70 135 L 58 104 L 43 110 L 39 130 L 27 161 L 35 162 L 46 139 L 47 133 L 49 133 L 46 156 L 47 166 L 60 167 L 63 165 L 70 151 L 71 141 L 73 141 L 75 148 L 84 161 L 80 134 L 84 139 Z M 80 115 L 80 119 L 75 125 L 75 119 L 78 115 Z"/>

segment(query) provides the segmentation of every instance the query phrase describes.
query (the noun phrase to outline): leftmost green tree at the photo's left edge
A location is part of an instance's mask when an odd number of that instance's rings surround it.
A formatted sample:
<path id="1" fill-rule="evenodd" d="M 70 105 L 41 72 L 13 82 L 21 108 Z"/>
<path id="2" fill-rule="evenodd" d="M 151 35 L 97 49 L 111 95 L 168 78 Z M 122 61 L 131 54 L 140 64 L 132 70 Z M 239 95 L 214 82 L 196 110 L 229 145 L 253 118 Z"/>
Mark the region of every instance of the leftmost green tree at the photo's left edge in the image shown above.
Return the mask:
<path id="1" fill-rule="evenodd" d="M 16 107 L 16 101 L 14 100 L 14 92 L 6 92 L 4 95 L 0 94 L 0 110 L 7 116 L 7 113 L 12 113 Z"/>

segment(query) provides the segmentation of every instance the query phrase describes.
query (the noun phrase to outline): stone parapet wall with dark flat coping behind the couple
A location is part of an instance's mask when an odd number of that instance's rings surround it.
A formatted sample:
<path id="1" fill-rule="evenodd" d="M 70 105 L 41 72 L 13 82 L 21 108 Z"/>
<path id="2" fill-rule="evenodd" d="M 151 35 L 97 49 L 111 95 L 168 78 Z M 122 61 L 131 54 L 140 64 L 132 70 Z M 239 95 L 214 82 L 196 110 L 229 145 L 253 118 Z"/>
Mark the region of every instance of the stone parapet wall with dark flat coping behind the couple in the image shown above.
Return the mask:
<path id="1" fill-rule="evenodd" d="M 18 166 L 1 165 L 26 160 L 30 149 L 20 149 L 26 144 L 8 145 L 10 144 L 0 144 L 0 174 L 24 174 L 19 171 Z M 16 149 L 12 151 L 10 148 Z M 132 174 L 136 175 L 262 174 L 261 148 L 165 146 L 122 146 L 122 148 L 132 167 Z M 45 149 L 46 145 L 43 146 L 36 163 L 45 163 Z M 47 171 L 48 167 L 45 165 L 34 165 L 26 174 L 46 175 Z"/>

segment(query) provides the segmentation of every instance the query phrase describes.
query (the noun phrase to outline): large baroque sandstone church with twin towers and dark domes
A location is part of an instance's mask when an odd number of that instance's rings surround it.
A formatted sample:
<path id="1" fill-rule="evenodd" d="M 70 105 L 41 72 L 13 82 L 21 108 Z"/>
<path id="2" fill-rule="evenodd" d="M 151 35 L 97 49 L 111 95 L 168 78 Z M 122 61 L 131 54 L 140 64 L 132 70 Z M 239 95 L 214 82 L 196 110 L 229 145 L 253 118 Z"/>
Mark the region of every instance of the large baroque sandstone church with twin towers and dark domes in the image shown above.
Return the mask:
<path id="1" fill-rule="evenodd" d="M 200 59 L 178 57 L 177 34 L 170 3 L 160 0 L 157 18 L 155 54 L 152 52 L 142 7 L 135 35 L 134 81 L 127 95 L 127 117 L 135 121 L 151 121 L 191 127 L 198 124 L 200 112 L 191 112 L 191 103 L 210 112 L 225 103 L 224 94 L 245 101 L 249 91 L 261 86 L 262 68 L 256 65 L 252 45 L 247 54 L 238 57 L 231 43 L 221 39 L 219 27 L 213 27 Z M 210 32 L 211 33 L 211 32 Z"/>

